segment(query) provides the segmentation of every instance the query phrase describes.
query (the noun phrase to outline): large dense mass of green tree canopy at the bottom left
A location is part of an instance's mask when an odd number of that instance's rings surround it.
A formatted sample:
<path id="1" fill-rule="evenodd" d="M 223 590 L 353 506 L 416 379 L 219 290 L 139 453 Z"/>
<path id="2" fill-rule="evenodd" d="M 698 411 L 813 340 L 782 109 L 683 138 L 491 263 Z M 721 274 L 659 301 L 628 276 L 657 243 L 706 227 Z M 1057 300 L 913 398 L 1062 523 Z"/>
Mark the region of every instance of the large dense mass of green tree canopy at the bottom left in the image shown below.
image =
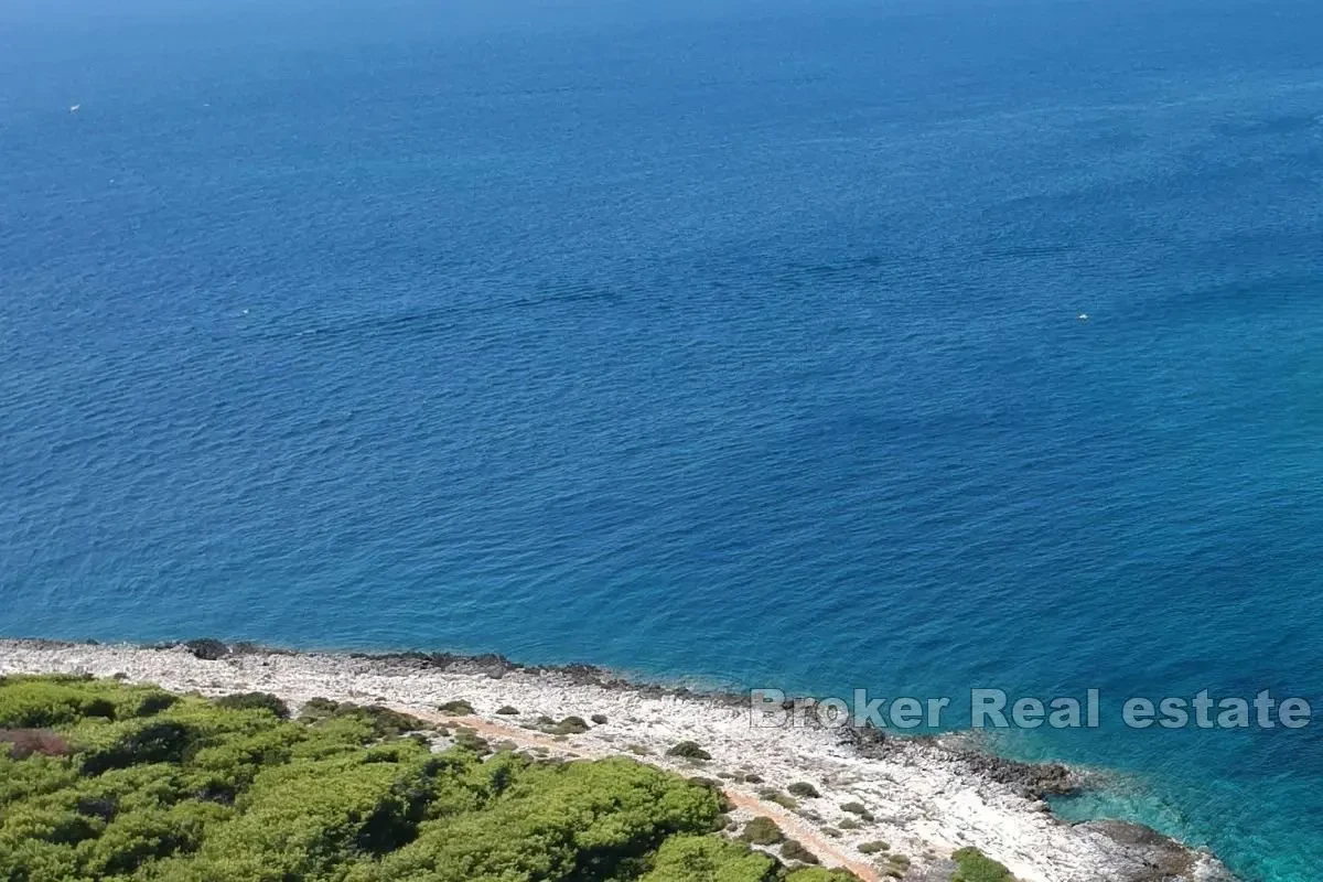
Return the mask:
<path id="1" fill-rule="evenodd" d="M 437 754 L 411 734 L 422 721 L 385 707 L 315 700 L 286 714 L 269 696 L 0 678 L 0 881 L 849 878 L 717 836 L 726 804 L 712 783 L 632 759 L 484 759 L 466 729 Z"/>

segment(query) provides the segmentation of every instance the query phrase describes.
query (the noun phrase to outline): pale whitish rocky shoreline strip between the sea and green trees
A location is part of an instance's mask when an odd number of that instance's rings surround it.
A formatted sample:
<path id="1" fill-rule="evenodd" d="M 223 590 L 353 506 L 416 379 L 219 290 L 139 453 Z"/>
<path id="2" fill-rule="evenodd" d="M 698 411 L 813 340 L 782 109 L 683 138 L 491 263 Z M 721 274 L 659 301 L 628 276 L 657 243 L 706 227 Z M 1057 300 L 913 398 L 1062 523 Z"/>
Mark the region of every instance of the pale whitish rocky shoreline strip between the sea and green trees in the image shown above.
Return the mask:
<path id="1" fill-rule="evenodd" d="M 1233 878 L 1209 853 L 1148 828 L 1053 816 L 1041 796 L 1082 782 L 1065 766 L 999 758 L 960 734 L 757 729 L 747 696 L 635 682 L 593 665 L 533 666 L 497 655 L 298 652 L 216 640 L 147 647 L 0 640 L 0 676 L 17 673 L 119 677 L 209 697 L 269 692 L 292 707 L 311 698 L 377 703 L 566 759 L 632 755 L 722 779 L 737 819 L 771 816 L 824 866 L 847 867 L 865 881 L 886 878 L 893 866 L 878 861 L 885 856 L 859 850 L 878 840 L 890 854 L 908 857 L 904 878 L 921 882 L 947 879 L 950 854 L 963 846 L 1005 863 L 1020 882 Z M 438 711 L 458 700 L 474 713 Z M 511 707 L 519 713 L 509 714 Z M 570 715 L 605 722 L 557 737 L 529 723 Z M 683 741 L 697 742 L 710 760 L 667 756 Z M 791 799 L 787 787 L 802 782 L 819 796 Z"/>

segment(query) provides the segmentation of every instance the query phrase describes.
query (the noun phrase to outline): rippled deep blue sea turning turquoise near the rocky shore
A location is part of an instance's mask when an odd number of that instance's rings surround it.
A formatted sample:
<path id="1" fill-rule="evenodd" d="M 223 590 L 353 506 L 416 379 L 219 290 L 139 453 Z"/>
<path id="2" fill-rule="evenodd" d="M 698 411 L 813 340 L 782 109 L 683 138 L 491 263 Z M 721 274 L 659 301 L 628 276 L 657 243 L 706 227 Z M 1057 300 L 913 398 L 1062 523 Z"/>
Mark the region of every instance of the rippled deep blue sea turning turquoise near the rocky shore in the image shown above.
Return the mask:
<path id="1" fill-rule="evenodd" d="M 1316 0 L 5 0 L 0 635 L 1093 688 L 996 739 L 1107 770 L 1062 812 L 1314 882 L 1320 46 Z M 1117 722 L 1201 689 L 1319 719 Z"/>

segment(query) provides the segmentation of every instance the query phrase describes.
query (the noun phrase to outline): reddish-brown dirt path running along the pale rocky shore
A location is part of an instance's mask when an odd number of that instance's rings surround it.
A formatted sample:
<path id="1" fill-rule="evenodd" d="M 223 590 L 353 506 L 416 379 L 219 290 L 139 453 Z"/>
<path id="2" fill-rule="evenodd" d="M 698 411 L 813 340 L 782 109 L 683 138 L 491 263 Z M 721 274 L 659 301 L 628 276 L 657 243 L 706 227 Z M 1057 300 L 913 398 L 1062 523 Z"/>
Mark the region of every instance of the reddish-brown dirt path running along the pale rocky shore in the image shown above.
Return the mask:
<path id="1" fill-rule="evenodd" d="M 544 735 L 541 733 L 533 733 L 520 726 L 509 726 L 504 723 L 491 722 L 480 717 L 446 717 L 442 714 L 426 714 L 418 713 L 415 710 L 409 710 L 398 707 L 401 713 L 413 714 L 419 719 L 426 719 L 427 722 L 441 723 L 446 726 L 468 726 L 478 734 L 486 738 L 493 738 L 500 741 L 511 741 L 519 744 L 521 748 L 531 747 L 544 747 L 546 750 L 554 750 L 560 754 L 565 754 L 573 758 L 581 759 L 601 759 L 603 756 L 630 756 L 639 762 L 648 762 L 647 756 L 635 756 L 632 754 L 624 754 L 623 751 L 613 751 L 605 748 L 585 748 L 570 742 L 556 741 L 550 735 Z M 656 764 L 656 763 L 654 763 Z M 839 842 L 832 841 L 830 837 L 824 836 L 815 826 L 808 824 L 804 819 L 795 815 L 794 812 L 786 809 L 782 805 L 770 803 L 767 800 L 758 799 L 746 792 L 726 788 L 726 799 L 729 799 L 734 805 L 749 811 L 754 815 L 763 815 L 770 817 L 777 822 L 777 825 L 786 833 L 787 837 L 798 840 L 800 845 L 818 856 L 818 858 L 827 866 L 840 866 L 855 875 L 857 875 L 864 882 L 881 882 L 881 875 L 875 867 L 868 863 L 861 862 L 849 850 L 844 849 Z"/>

